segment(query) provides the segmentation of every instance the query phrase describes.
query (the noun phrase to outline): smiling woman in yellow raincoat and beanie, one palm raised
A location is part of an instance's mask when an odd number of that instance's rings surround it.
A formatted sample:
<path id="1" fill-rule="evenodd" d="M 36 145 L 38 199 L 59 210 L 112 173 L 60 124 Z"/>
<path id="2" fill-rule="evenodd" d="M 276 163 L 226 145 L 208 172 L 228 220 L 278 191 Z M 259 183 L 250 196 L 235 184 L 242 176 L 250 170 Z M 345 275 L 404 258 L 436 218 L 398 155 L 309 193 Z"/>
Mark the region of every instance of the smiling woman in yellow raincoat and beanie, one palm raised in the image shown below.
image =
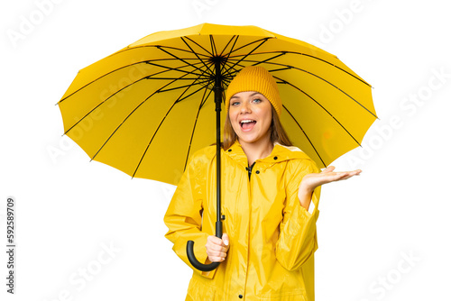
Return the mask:
<path id="1" fill-rule="evenodd" d="M 222 149 L 222 239 L 215 233 L 216 146 L 193 155 L 164 221 L 173 250 L 189 266 L 186 244 L 199 261 L 186 300 L 314 300 L 313 254 L 320 186 L 361 170 L 319 169 L 280 123 L 281 98 L 271 74 L 247 67 L 226 91 Z M 313 202 L 313 205 L 310 203 Z"/>

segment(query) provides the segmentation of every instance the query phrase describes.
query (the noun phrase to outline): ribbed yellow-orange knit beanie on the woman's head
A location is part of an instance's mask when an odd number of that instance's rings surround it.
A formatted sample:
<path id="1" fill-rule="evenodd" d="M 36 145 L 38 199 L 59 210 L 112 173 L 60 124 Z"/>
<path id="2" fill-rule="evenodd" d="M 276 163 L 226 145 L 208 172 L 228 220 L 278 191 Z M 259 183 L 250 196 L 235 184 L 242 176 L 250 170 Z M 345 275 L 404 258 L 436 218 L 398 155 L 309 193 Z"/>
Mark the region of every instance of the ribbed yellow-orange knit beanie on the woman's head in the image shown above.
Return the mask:
<path id="1" fill-rule="evenodd" d="M 275 111 L 281 117 L 281 96 L 276 80 L 271 73 L 260 66 L 248 66 L 238 72 L 230 82 L 226 91 L 226 113 L 230 98 L 239 92 L 255 91 L 268 98 Z"/>

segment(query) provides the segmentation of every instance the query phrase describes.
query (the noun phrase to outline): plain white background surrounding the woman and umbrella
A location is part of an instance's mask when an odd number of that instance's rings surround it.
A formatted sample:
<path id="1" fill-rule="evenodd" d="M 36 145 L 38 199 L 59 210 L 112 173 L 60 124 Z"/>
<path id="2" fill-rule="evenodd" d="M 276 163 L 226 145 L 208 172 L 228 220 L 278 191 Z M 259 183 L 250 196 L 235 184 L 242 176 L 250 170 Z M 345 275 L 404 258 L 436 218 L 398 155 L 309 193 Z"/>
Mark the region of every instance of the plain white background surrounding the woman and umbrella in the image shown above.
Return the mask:
<path id="1" fill-rule="evenodd" d="M 147 34 L 223 23 L 309 41 L 374 87 L 380 120 L 364 148 L 334 162 L 362 175 L 323 187 L 317 300 L 451 300 L 451 22 L 444 3 L 4 1 L 0 298 L 184 299 L 191 271 L 171 251 L 162 222 L 174 187 L 89 162 L 61 137 L 55 104 L 78 69 Z M 8 196 L 17 211 L 14 296 L 5 292 Z"/>

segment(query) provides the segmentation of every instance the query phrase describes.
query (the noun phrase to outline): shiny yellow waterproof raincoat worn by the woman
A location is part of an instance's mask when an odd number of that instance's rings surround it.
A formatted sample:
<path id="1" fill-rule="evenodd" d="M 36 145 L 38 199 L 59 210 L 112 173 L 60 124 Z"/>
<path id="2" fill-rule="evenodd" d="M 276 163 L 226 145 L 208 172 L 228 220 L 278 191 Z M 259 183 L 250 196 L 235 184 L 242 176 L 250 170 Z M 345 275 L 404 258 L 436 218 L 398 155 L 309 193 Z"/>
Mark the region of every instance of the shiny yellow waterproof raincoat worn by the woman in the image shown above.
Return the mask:
<path id="1" fill-rule="evenodd" d="M 240 144 L 221 151 L 221 212 L 230 248 L 217 269 L 193 269 L 186 300 L 313 301 L 320 187 L 311 214 L 299 204 L 298 190 L 306 174 L 319 172 L 317 165 L 301 150 L 275 144 L 248 178 Z M 192 268 L 186 253 L 192 240 L 196 257 L 206 262 L 207 236 L 216 222 L 216 146 L 193 155 L 164 222 L 181 260 Z"/>

